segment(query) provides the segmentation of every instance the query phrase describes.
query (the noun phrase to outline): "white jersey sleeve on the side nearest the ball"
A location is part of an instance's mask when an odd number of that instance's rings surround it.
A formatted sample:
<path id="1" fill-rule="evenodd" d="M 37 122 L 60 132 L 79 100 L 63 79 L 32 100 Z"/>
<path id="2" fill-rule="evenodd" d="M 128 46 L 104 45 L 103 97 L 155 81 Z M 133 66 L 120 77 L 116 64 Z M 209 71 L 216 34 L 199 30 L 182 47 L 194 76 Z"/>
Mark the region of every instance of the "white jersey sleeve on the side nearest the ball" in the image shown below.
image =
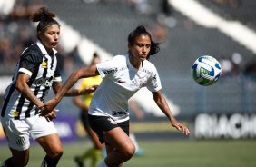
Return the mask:
<path id="1" fill-rule="evenodd" d="M 162 89 L 160 77 L 157 73 L 156 68 L 153 66 L 153 73 L 151 74 L 151 77 L 146 84 L 146 87 L 148 88 L 149 91 L 151 92 L 157 92 Z"/>

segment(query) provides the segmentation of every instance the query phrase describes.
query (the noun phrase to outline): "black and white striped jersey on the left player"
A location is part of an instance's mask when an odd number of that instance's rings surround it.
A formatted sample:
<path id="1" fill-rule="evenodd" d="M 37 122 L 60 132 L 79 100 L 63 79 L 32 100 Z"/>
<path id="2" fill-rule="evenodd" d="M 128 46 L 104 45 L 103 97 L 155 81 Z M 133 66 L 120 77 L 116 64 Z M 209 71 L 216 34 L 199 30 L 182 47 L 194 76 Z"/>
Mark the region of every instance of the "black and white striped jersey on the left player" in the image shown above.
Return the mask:
<path id="1" fill-rule="evenodd" d="M 15 89 L 17 75 L 19 72 L 30 75 L 28 86 L 34 95 L 44 102 L 44 96 L 51 89 L 52 83 L 62 81 L 56 53 L 53 49 L 52 54 L 48 54 L 39 40 L 25 49 L 16 65 L 13 82 L 5 91 L 2 117 L 19 120 L 38 113 L 37 106 Z"/>

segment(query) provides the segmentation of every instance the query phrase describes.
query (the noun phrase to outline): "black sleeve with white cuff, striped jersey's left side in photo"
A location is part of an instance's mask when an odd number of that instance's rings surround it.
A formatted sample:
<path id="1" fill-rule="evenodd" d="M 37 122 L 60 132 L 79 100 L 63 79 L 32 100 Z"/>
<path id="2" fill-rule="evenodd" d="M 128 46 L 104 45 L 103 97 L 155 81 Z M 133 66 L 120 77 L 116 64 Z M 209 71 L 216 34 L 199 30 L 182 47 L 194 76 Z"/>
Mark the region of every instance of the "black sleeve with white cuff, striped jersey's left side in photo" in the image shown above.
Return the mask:
<path id="1" fill-rule="evenodd" d="M 33 54 L 32 52 L 26 52 L 22 54 L 19 65 L 19 72 L 23 72 L 31 76 L 34 70 L 39 68 L 42 63 L 40 56 Z"/>

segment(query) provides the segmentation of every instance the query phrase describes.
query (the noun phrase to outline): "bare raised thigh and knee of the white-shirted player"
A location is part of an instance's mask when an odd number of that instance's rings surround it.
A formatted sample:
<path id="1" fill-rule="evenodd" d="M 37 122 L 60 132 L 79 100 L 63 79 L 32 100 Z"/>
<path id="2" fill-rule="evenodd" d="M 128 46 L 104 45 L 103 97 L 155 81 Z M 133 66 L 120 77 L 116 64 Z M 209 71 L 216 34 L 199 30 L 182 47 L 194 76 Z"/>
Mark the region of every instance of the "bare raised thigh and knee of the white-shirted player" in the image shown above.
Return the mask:
<path id="1" fill-rule="evenodd" d="M 120 127 L 116 127 L 106 132 L 103 139 L 119 152 L 129 152 L 129 154 L 135 152 L 135 146 L 132 140 Z"/>

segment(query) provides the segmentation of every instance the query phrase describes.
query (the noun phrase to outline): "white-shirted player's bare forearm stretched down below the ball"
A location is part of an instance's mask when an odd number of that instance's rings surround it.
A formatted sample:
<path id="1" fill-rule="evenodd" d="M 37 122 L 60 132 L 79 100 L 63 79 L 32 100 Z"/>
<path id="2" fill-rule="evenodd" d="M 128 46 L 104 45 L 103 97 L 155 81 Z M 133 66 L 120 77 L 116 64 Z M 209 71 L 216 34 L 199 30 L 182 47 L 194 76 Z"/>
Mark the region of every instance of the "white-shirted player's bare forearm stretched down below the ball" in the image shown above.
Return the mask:
<path id="1" fill-rule="evenodd" d="M 161 91 L 153 93 L 153 100 L 162 110 L 162 113 L 164 113 L 170 119 L 173 127 L 177 128 L 179 131 L 182 129 L 182 133 L 185 133 L 186 135 L 190 133 L 189 129 L 186 126 L 184 126 L 182 123 L 177 122 L 176 119 L 173 117 L 172 112 L 164 97 L 162 96 Z"/>

